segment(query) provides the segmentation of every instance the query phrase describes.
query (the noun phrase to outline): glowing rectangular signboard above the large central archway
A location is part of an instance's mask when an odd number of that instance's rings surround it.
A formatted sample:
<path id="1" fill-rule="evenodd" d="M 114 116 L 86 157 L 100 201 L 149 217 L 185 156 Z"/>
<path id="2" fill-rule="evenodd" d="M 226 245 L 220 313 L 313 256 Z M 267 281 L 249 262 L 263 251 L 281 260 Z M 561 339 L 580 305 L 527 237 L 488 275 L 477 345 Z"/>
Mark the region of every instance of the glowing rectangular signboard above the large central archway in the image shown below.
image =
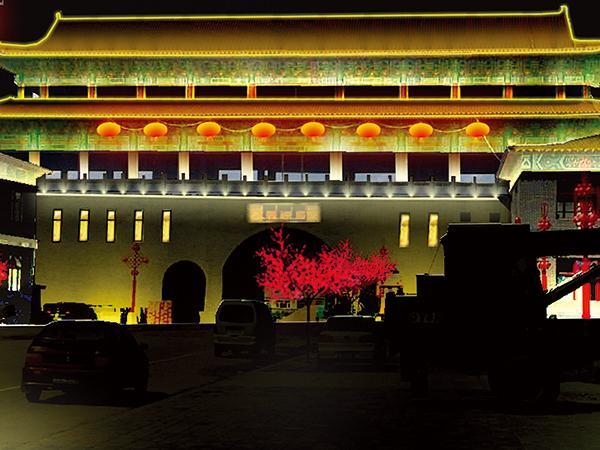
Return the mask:
<path id="1" fill-rule="evenodd" d="M 318 203 L 250 203 L 249 223 L 318 223 L 321 208 Z"/>

